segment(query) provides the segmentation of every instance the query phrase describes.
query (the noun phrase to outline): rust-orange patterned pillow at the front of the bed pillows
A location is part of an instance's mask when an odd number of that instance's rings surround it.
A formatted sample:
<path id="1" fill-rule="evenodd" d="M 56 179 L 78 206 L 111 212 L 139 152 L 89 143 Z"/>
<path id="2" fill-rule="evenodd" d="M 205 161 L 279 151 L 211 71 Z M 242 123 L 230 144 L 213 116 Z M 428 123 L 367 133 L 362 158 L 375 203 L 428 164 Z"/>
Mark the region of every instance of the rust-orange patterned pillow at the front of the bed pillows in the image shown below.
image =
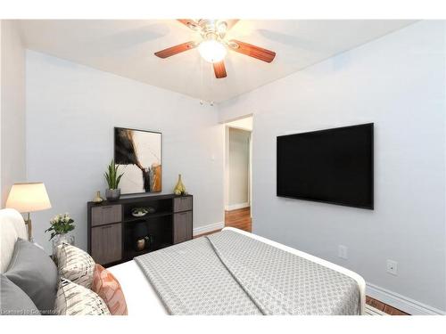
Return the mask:
<path id="1" fill-rule="evenodd" d="M 103 298 L 112 315 L 128 314 L 126 298 L 120 287 L 120 282 L 102 265 L 95 265 L 91 289 Z"/>

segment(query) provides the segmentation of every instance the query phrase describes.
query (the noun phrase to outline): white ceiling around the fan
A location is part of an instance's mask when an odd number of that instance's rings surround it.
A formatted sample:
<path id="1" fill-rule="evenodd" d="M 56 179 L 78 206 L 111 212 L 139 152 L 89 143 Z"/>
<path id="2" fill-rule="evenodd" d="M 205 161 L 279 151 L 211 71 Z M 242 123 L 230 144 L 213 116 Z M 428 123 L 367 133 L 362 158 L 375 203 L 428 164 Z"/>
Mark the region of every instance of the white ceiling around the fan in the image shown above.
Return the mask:
<path id="1" fill-rule="evenodd" d="M 229 38 L 277 53 L 272 63 L 228 52 L 216 79 L 196 49 L 154 52 L 198 38 L 177 20 L 21 20 L 27 48 L 194 98 L 222 102 L 401 29 L 413 20 L 240 20 Z"/>

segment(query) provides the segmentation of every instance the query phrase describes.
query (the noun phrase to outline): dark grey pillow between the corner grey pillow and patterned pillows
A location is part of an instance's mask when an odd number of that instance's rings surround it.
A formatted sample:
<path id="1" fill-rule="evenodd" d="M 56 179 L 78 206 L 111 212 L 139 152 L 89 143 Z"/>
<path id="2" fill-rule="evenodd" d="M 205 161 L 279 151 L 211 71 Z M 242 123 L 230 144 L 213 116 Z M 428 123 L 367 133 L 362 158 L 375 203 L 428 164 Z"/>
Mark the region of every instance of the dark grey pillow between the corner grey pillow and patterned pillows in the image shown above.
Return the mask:
<path id="1" fill-rule="evenodd" d="M 57 267 L 44 250 L 28 240 L 17 240 L 4 275 L 31 298 L 41 314 L 53 313 Z"/>

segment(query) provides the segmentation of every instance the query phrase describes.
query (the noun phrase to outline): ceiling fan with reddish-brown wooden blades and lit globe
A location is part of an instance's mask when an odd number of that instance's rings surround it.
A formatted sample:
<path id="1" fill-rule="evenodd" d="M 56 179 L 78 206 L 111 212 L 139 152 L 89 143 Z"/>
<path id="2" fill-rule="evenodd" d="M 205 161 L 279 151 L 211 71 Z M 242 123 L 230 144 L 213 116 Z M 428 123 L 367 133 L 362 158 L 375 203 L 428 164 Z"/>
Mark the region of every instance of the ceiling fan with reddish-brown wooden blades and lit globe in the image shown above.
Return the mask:
<path id="1" fill-rule="evenodd" d="M 227 50 L 246 54 L 260 61 L 271 62 L 276 57 L 276 53 L 259 46 L 250 45 L 235 39 L 226 40 L 226 34 L 238 20 L 178 20 L 186 27 L 200 33 L 201 41 L 190 41 L 180 45 L 175 45 L 155 53 L 160 58 L 168 58 L 177 53 L 198 47 L 198 52 L 205 61 L 213 64 L 215 77 L 227 77 L 225 68 L 225 56 Z"/>

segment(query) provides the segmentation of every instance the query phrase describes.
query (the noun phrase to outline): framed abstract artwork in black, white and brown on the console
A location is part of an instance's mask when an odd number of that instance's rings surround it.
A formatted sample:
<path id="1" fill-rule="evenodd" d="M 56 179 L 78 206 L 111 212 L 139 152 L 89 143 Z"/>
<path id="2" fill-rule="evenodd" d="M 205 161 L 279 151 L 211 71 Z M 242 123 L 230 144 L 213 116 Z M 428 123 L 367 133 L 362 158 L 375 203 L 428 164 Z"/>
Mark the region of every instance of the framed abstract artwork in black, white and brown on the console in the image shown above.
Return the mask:
<path id="1" fill-rule="evenodd" d="M 161 133 L 114 128 L 114 161 L 122 194 L 161 192 Z"/>

